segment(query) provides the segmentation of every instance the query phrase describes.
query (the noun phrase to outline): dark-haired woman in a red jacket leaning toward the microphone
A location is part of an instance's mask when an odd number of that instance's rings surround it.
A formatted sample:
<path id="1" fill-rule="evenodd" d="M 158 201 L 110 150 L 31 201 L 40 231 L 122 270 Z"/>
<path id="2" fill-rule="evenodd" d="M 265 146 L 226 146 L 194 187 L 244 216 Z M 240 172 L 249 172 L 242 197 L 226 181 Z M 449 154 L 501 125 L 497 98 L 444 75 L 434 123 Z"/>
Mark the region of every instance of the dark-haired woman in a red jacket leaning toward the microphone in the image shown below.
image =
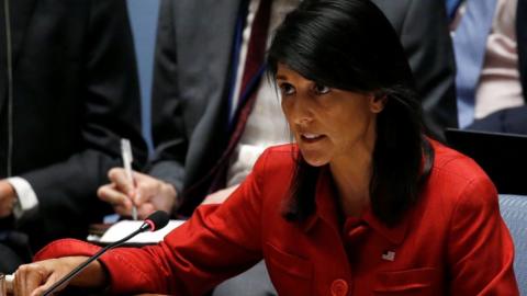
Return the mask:
<path id="1" fill-rule="evenodd" d="M 397 36 L 366 0 L 304 0 L 269 66 L 295 145 L 268 149 L 222 206 L 116 249 L 71 284 L 202 295 L 265 259 L 280 295 L 517 295 L 494 185 L 423 135 Z M 61 240 L 16 272 L 38 295 L 99 248 Z M 124 281 L 123 281 L 124 280 Z"/>

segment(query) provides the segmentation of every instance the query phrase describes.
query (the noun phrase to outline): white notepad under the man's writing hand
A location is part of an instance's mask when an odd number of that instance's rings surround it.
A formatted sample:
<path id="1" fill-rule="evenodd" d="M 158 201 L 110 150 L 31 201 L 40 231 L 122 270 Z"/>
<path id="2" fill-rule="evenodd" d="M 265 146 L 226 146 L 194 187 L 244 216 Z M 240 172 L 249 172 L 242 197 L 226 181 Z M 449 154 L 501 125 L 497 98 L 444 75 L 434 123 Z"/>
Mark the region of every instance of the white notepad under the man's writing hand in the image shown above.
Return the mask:
<path id="1" fill-rule="evenodd" d="M 170 220 L 164 228 L 154 232 L 143 232 L 130 239 L 124 244 L 155 244 L 161 241 L 168 232 L 183 224 L 184 220 Z M 137 230 L 143 221 L 121 220 L 112 225 L 102 237 L 96 241 L 101 244 L 112 243 Z"/>

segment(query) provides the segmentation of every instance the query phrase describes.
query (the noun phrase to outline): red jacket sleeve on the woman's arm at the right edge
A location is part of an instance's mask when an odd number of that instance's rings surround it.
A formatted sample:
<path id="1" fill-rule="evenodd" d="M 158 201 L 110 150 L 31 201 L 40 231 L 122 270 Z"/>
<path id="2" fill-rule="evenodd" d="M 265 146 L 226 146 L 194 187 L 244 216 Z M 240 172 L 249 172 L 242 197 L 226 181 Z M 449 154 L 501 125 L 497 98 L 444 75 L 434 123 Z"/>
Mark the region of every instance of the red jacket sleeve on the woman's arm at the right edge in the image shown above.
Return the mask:
<path id="1" fill-rule="evenodd" d="M 500 215 L 497 194 L 486 178 L 467 185 L 448 237 L 451 295 L 519 295 L 514 244 Z"/>

